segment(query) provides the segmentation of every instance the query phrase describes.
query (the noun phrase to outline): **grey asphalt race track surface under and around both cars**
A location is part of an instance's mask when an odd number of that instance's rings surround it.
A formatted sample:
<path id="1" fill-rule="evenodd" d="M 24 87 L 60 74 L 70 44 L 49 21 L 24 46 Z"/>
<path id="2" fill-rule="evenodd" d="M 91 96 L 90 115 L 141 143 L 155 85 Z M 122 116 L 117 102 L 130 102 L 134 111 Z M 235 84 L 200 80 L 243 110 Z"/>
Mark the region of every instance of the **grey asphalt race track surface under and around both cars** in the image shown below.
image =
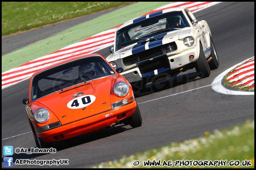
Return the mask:
<path id="1" fill-rule="evenodd" d="M 254 2 L 222 2 L 194 15 L 209 24 L 219 55 L 220 66 L 210 77 L 201 79 L 191 69 L 175 78 L 147 84 L 145 90 L 135 90 L 143 119 L 139 128 L 119 125 L 73 138 L 54 145 L 57 153 L 12 155 L 14 160 L 69 159 L 69 165 L 14 168 L 84 168 L 254 120 L 254 95 L 225 95 L 211 87 L 219 74 L 254 56 Z M 107 49 L 98 53 L 104 57 L 109 54 Z M 28 89 L 26 80 L 2 90 L 2 148 L 36 147 L 22 104 L 22 99 L 28 98 Z M 2 162 L 4 157 L 2 154 Z"/>

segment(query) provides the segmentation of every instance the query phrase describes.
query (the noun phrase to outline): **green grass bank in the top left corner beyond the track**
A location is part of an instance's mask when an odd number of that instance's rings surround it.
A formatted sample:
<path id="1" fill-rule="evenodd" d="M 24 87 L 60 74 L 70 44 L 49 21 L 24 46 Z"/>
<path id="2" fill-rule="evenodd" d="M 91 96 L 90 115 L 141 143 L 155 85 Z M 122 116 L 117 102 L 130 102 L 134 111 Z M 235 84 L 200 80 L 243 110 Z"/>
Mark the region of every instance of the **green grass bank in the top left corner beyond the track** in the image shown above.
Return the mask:
<path id="1" fill-rule="evenodd" d="M 2 36 L 133 2 L 2 2 Z"/>

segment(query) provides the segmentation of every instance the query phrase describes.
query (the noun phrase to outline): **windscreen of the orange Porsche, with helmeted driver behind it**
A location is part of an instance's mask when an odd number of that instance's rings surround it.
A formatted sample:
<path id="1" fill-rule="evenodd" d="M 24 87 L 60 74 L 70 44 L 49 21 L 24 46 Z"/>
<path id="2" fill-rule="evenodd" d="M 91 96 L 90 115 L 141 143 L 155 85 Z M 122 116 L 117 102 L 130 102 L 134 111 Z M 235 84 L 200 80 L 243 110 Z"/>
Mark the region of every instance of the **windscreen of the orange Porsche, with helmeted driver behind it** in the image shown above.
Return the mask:
<path id="1" fill-rule="evenodd" d="M 44 70 L 32 78 L 31 101 L 76 84 L 115 74 L 100 56 L 70 61 Z"/>

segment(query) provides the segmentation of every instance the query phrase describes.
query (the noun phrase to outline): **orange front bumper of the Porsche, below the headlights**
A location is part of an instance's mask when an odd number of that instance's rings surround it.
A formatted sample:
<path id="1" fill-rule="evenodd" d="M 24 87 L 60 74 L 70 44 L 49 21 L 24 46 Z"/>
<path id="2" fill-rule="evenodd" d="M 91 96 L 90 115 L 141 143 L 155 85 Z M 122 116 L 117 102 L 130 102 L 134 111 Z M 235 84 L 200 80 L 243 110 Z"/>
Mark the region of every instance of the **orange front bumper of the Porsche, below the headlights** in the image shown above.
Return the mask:
<path id="1" fill-rule="evenodd" d="M 136 106 L 137 104 L 134 100 L 129 104 L 111 109 L 110 111 L 77 120 L 45 132 L 37 132 L 37 135 L 42 141 L 49 143 L 101 130 L 132 116 L 136 111 Z"/>

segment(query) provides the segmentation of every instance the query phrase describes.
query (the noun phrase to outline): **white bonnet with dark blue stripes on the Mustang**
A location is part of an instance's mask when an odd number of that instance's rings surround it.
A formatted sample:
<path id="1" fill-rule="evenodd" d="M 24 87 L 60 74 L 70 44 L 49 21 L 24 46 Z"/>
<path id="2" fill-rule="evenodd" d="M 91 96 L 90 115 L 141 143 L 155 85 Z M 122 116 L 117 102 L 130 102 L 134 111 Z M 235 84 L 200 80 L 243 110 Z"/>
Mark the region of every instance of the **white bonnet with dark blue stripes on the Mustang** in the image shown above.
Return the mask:
<path id="1" fill-rule="evenodd" d="M 151 37 L 147 40 L 140 40 L 136 44 L 124 47 L 124 50 L 118 50 L 116 54 L 118 54 L 117 59 L 121 59 L 135 53 L 145 51 L 156 46 L 160 46 L 162 44 L 167 44 L 179 39 L 180 34 L 183 30 L 173 30 L 171 32 L 161 33 L 154 37 Z M 113 57 L 113 56 L 111 56 Z M 109 58 L 113 59 L 113 58 Z"/>

